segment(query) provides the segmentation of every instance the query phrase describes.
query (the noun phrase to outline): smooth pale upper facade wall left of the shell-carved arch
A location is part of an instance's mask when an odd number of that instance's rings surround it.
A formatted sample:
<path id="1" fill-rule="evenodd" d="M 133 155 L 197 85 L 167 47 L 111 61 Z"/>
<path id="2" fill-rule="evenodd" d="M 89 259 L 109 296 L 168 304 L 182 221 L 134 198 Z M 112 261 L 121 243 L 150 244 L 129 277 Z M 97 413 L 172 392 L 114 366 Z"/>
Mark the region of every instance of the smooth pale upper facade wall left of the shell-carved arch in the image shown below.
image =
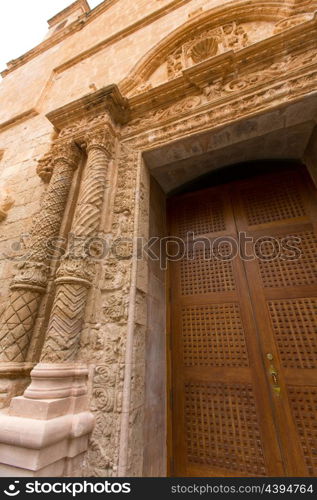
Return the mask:
<path id="1" fill-rule="evenodd" d="M 98 7 L 99 10 L 105 9 L 104 12 L 84 29 L 74 32 L 6 76 L 0 86 L 0 99 L 6 102 L 1 108 L 0 126 L 29 109 L 36 107 L 45 114 L 96 88 L 118 83 L 149 47 L 185 22 L 191 12 L 202 5 L 206 9 L 224 2 L 142 0 L 127 5 L 124 0 L 119 0 L 110 2 L 108 8 L 106 3 Z M 143 26 L 141 19 L 166 5 L 171 6 L 170 13 L 162 12 L 157 20 L 155 17 L 149 19 Z M 119 35 L 135 24 L 135 28 L 127 30 L 125 35 Z M 16 99 L 17 95 L 19 99 Z"/>

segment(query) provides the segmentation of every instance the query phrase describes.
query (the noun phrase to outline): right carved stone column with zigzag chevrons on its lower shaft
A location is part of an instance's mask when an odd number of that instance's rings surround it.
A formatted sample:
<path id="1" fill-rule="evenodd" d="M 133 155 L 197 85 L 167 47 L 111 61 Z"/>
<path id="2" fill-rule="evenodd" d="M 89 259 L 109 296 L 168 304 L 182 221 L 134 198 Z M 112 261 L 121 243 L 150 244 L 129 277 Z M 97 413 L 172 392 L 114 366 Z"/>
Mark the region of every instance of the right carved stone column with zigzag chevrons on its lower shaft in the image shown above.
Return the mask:
<path id="1" fill-rule="evenodd" d="M 89 239 L 100 226 L 112 141 L 108 131 L 87 138 L 88 160 L 72 227 L 76 245 L 68 247 L 57 273 L 55 300 L 41 357 L 44 363 L 70 362 L 76 358 L 94 275 Z"/>

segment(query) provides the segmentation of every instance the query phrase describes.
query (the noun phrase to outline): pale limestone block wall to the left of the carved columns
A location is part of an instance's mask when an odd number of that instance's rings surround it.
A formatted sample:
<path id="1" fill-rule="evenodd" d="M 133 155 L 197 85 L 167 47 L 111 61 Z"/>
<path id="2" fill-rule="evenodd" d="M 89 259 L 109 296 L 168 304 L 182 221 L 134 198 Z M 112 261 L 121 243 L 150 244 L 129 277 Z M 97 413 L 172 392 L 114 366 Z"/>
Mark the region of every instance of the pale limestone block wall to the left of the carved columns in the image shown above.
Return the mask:
<path id="1" fill-rule="evenodd" d="M 0 197 L 8 194 L 14 201 L 7 217 L 0 222 L 1 308 L 6 300 L 14 262 L 25 251 L 32 218 L 39 210 L 40 199 L 47 187 L 37 175 L 36 167 L 37 161 L 49 150 L 52 136 L 52 126 L 43 116 L 17 124 L 0 134 L 0 149 L 3 150 Z M 23 234 L 25 237 L 21 241 Z"/>

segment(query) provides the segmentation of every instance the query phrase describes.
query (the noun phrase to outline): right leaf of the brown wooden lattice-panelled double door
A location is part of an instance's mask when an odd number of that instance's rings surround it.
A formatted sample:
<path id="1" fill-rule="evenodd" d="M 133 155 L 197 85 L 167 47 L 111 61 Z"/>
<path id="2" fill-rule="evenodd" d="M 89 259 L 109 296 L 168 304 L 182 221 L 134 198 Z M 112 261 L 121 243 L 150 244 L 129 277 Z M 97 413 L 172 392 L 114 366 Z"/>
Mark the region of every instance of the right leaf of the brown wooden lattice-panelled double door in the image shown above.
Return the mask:
<path id="1" fill-rule="evenodd" d="M 247 181 L 236 191 L 237 227 L 259 242 L 261 258 L 246 262 L 245 269 L 286 474 L 316 475 L 316 191 L 301 171 L 269 176 L 262 184 Z"/>

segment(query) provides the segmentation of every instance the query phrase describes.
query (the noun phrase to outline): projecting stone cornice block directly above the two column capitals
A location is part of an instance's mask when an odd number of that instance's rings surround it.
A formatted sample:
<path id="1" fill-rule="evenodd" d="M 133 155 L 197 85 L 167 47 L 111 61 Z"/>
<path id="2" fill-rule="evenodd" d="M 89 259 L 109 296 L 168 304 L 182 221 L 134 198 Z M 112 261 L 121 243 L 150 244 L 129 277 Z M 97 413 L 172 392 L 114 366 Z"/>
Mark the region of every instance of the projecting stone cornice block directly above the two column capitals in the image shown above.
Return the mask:
<path id="1" fill-rule="evenodd" d="M 109 85 L 97 92 L 81 97 L 48 113 L 46 117 L 60 131 L 78 124 L 81 120 L 94 126 L 94 118 L 100 115 L 109 115 L 115 123 L 127 122 L 128 103 L 122 97 L 116 85 Z"/>

